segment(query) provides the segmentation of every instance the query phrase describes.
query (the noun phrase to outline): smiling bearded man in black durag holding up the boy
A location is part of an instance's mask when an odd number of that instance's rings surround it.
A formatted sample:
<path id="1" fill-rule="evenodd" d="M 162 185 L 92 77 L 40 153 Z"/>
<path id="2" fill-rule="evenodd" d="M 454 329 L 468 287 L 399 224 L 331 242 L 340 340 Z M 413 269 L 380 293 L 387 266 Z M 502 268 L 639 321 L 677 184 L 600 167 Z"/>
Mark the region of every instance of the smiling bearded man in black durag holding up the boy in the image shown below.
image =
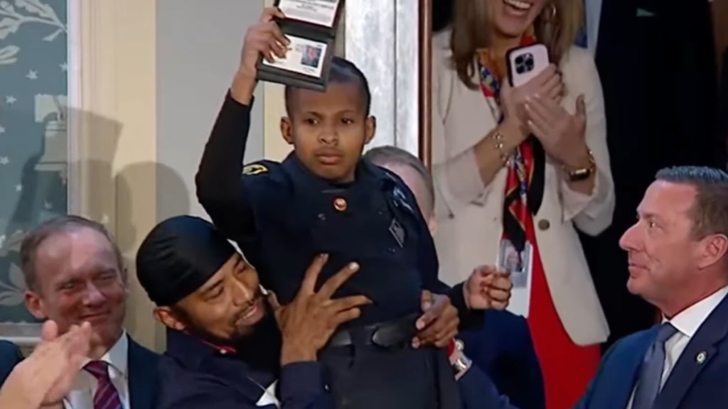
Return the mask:
<path id="1" fill-rule="evenodd" d="M 333 409 L 317 352 L 370 301 L 331 299 L 356 263 L 314 291 L 325 262 L 318 256 L 280 307 L 209 222 L 178 216 L 152 229 L 137 253 L 137 277 L 168 328 L 157 409 Z"/>

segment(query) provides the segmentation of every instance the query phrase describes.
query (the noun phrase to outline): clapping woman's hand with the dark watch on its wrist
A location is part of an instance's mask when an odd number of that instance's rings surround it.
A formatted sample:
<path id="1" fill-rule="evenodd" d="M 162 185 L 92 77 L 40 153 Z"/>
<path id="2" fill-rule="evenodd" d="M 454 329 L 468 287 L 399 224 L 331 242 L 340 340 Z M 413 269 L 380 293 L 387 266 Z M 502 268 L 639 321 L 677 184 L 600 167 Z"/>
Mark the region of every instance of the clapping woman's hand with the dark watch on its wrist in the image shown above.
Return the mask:
<path id="1" fill-rule="evenodd" d="M 529 97 L 525 107 L 529 131 L 541 141 L 549 156 L 566 167 L 588 165 L 584 95 L 577 98 L 576 112 L 573 115 L 553 99 L 539 94 Z"/>

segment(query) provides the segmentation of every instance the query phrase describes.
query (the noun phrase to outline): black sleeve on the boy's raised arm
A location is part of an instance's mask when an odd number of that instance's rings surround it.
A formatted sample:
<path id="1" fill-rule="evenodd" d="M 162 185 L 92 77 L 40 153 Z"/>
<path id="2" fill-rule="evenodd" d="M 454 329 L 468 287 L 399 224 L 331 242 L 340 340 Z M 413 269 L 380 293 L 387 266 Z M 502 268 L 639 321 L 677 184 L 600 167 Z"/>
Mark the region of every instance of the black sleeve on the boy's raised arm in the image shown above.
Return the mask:
<path id="1" fill-rule="evenodd" d="M 249 131 L 250 106 L 228 92 L 195 177 L 199 204 L 215 226 L 236 241 L 256 235 L 252 200 L 241 179 Z"/>

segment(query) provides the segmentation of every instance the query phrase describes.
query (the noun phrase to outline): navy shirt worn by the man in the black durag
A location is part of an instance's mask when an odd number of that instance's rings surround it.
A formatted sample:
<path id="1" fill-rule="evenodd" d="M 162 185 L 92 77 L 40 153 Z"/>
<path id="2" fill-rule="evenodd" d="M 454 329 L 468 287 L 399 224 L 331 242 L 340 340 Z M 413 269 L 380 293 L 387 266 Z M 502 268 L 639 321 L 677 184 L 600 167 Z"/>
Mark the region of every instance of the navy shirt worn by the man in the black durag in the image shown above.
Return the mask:
<path id="1" fill-rule="evenodd" d="M 167 352 L 159 364 L 158 409 L 333 409 L 318 362 L 279 367 L 250 360 L 272 354 L 271 346 L 222 348 L 167 330 Z M 262 364 L 262 365 L 261 365 Z"/>

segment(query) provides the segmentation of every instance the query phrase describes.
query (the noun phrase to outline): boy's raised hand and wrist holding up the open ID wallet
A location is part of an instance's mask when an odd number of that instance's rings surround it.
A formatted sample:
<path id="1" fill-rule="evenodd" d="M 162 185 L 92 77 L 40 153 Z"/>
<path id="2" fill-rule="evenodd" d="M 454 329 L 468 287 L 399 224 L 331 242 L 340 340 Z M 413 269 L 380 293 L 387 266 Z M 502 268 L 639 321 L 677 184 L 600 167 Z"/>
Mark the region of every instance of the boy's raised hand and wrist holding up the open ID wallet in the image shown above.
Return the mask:
<path id="1" fill-rule="evenodd" d="M 274 57 L 285 57 L 290 41 L 285 38 L 275 19 L 284 18 L 276 7 L 264 9 L 258 23 L 250 26 L 240 53 L 240 67 L 235 74 L 230 92 L 232 98 L 243 105 L 249 105 L 256 88 L 256 66 L 261 57 L 274 62 Z"/>

